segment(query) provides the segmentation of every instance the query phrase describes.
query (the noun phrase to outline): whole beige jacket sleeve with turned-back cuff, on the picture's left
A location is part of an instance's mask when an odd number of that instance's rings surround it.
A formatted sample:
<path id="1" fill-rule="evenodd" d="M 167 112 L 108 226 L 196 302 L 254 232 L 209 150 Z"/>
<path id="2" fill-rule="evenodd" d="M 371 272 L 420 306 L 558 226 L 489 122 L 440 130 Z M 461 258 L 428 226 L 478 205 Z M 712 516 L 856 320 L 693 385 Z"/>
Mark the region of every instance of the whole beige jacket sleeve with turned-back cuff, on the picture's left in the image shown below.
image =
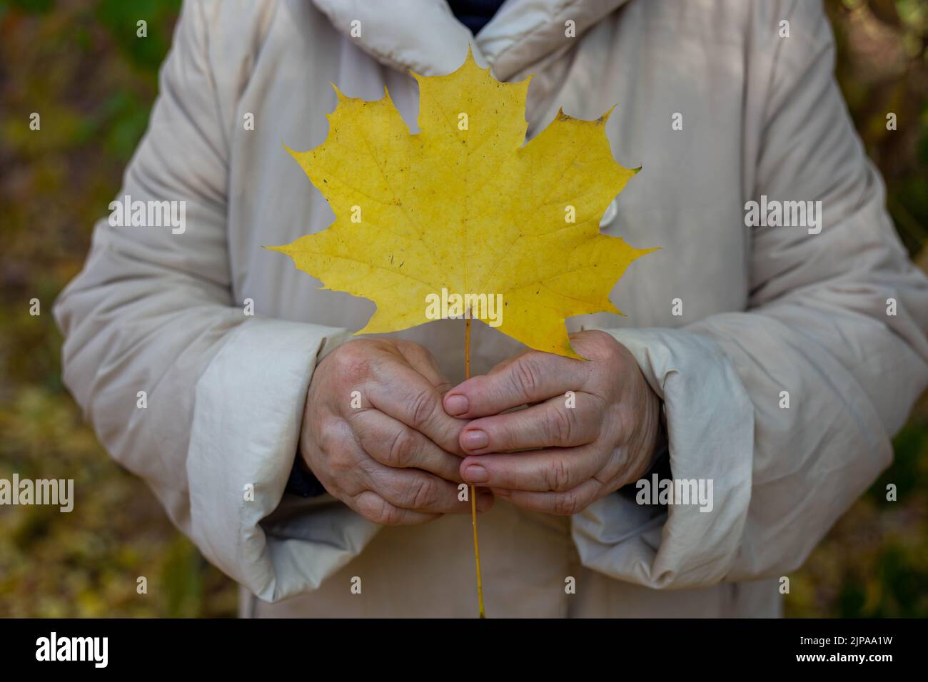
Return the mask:
<path id="1" fill-rule="evenodd" d="M 232 298 L 216 6 L 185 5 L 119 196 L 186 202 L 185 228 L 101 220 L 55 315 L 64 381 L 100 442 L 209 560 L 277 600 L 319 585 L 374 526 L 329 495 L 280 504 L 316 358 L 346 333 L 245 315 Z"/>

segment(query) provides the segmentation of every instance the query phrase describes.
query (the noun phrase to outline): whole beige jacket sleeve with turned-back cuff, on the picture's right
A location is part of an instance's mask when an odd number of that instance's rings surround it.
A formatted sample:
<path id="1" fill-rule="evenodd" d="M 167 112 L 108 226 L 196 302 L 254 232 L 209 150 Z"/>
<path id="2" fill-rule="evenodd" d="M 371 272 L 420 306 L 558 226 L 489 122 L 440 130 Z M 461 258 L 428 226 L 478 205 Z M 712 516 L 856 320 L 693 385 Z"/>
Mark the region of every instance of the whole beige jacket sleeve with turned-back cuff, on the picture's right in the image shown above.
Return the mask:
<path id="1" fill-rule="evenodd" d="M 797 569 L 889 465 L 890 437 L 928 383 L 928 282 L 832 78 L 831 28 L 818 3 L 795 6 L 751 199 L 821 201 L 820 233 L 754 228 L 744 312 L 611 331 L 664 399 L 674 478 L 713 482 L 711 511 L 610 495 L 574 517 L 586 565 L 639 585 Z"/>

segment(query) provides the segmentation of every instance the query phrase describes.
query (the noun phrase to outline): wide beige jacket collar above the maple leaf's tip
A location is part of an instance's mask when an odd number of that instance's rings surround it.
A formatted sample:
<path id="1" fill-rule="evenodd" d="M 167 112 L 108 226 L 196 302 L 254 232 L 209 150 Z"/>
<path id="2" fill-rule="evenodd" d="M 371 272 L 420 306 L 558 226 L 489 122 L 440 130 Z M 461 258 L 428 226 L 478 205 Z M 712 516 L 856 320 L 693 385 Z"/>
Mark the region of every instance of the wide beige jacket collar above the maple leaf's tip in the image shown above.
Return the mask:
<path id="1" fill-rule="evenodd" d="M 507 0 L 476 38 L 445 0 L 313 2 L 349 40 L 393 69 L 426 76 L 450 73 L 470 44 L 479 64 L 490 66 L 496 78 L 509 80 L 570 45 L 566 21 L 574 21 L 579 38 L 627 0 Z M 359 35 L 352 35 L 353 27 Z"/>

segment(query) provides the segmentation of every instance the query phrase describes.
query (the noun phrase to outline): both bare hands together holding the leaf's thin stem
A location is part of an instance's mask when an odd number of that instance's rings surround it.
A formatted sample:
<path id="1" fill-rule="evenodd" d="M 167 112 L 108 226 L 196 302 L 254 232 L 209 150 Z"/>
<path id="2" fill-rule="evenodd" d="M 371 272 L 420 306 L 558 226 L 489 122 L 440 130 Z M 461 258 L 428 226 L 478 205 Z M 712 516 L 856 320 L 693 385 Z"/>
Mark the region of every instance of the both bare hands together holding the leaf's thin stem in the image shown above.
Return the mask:
<path id="1" fill-rule="evenodd" d="M 661 406 L 612 336 L 582 331 L 571 344 L 587 362 L 532 351 L 452 387 L 417 343 L 345 343 L 310 383 L 303 461 L 329 494 L 385 525 L 470 513 L 459 483 L 479 486 L 478 511 L 498 495 L 578 513 L 649 469 Z"/>

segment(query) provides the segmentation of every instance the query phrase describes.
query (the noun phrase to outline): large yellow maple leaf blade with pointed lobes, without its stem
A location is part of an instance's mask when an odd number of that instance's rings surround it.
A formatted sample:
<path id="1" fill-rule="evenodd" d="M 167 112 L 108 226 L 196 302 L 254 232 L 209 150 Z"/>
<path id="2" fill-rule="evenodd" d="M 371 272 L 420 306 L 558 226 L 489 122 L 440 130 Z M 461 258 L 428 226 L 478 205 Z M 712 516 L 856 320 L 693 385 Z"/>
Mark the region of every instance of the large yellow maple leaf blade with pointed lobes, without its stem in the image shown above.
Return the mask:
<path id="1" fill-rule="evenodd" d="M 612 158 L 609 114 L 581 121 L 560 111 L 523 145 L 531 79 L 500 83 L 470 51 L 458 71 L 413 75 L 417 135 L 389 92 L 368 102 L 336 87 L 326 141 L 288 148 L 336 220 L 268 248 L 326 289 L 375 302 L 358 334 L 429 322 L 427 302 L 445 290 L 470 302 L 494 297 L 501 315 L 483 304 L 467 314 L 535 350 L 579 357 L 564 318 L 621 315 L 609 292 L 628 264 L 653 251 L 599 233 L 602 213 L 638 172 Z"/>

